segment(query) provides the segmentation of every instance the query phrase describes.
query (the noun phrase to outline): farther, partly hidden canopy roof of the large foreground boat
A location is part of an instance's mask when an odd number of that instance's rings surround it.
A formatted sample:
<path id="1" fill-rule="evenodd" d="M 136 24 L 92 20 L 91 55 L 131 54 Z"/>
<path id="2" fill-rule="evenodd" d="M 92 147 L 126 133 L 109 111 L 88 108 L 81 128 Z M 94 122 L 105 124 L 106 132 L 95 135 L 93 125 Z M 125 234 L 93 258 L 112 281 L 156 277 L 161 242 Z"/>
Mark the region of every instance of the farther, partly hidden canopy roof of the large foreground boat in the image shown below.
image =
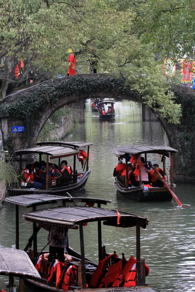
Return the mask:
<path id="1" fill-rule="evenodd" d="M 107 203 L 111 203 L 111 200 L 101 200 L 101 199 L 93 199 L 93 198 L 80 198 L 80 197 L 65 197 L 65 196 L 54 196 L 54 195 L 22 195 L 22 196 L 11 196 L 5 199 L 6 202 L 12 203 L 19 206 L 25 207 L 33 207 L 39 206 L 49 203 L 61 203 L 61 202 L 73 202 L 73 203 L 100 203 L 103 205 L 107 205 Z"/>

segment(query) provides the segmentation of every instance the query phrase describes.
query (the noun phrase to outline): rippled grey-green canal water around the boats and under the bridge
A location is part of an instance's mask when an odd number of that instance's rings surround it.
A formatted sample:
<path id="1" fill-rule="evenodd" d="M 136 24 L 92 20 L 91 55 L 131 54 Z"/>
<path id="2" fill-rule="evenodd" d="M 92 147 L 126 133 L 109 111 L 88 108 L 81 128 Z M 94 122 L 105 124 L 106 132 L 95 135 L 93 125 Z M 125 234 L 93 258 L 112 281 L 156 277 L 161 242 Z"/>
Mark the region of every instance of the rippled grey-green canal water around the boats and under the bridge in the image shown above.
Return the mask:
<path id="1" fill-rule="evenodd" d="M 89 166 L 91 175 L 84 189 L 72 193 L 72 196 L 86 196 L 112 200 L 107 207 L 132 214 L 138 214 L 149 219 L 149 225 L 141 230 L 141 258 L 145 258 L 150 267 L 146 282 L 155 290 L 161 292 L 195 291 L 195 185 L 177 183 L 176 195 L 189 204 L 188 208 L 179 208 L 176 202 L 139 203 L 117 193 L 113 177 L 118 158 L 112 148 L 119 145 L 168 145 L 168 139 L 158 120 L 142 121 L 142 109 L 133 102 L 115 103 L 115 120 L 102 122 L 98 113 L 91 112 L 90 101 L 86 104 L 85 123 L 76 127 L 75 134 L 64 140 L 89 141 Z M 73 158 L 68 158 L 68 164 L 73 165 Z M 162 167 L 160 155 L 150 155 Z M 76 168 L 81 170 L 77 161 Z M 167 168 L 169 162 L 167 161 Z M 32 224 L 22 218 L 26 209 L 20 207 L 19 237 L 20 249 L 27 244 L 32 234 Z M 4 203 L 0 211 L 0 244 L 11 247 L 15 243 L 15 209 L 9 203 Z M 90 223 L 84 228 L 86 256 L 98 260 L 97 223 Z M 117 252 L 126 259 L 136 256 L 135 228 L 112 228 L 102 225 L 102 244 L 108 253 Z M 47 243 L 47 232 L 38 233 L 38 249 Z M 80 250 L 79 231 L 69 230 L 69 245 Z M 0 276 L 0 287 L 5 288 L 7 278 Z"/>

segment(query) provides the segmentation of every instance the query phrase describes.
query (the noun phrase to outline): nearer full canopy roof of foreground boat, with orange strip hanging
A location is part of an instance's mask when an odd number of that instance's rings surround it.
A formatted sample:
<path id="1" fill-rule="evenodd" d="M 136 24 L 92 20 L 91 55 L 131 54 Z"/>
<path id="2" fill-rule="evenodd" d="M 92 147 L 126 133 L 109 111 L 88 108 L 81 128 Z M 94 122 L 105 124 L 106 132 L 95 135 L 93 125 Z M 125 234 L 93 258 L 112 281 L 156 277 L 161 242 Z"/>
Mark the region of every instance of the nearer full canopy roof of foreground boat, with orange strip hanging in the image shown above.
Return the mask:
<path id="1" fill-rule="evenodd" d="M 104 225 L 117 227 L 133 227 L 136 226 L 137 222 L 140 222 L 142 228 L 146 228 L 149 222 L 145 217 L 120 212 L 120 224 L 117 225 L 117 211 L 87 206 L 48 208 L 25 213 L 23 217 L 34 223 L 73 229 L 78 229 L 77 225 L 83 226 L 83 223 L 94 221 L 104 221 Z"/>

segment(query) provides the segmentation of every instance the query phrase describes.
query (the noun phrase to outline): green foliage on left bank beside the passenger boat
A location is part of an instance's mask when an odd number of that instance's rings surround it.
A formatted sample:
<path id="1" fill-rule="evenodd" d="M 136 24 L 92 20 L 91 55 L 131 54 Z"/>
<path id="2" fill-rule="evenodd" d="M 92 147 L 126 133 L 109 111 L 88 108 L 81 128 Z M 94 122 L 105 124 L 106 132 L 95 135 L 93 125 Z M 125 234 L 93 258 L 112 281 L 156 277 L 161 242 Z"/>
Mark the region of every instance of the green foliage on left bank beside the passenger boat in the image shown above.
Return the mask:
<path id="1" fill-rule="evenodd" d="M 17 187 L 19 185 L 18 177 L 16 170 L 9 162 L 0 162 L 0 182 L 5 183 L 7 188 Z"/>

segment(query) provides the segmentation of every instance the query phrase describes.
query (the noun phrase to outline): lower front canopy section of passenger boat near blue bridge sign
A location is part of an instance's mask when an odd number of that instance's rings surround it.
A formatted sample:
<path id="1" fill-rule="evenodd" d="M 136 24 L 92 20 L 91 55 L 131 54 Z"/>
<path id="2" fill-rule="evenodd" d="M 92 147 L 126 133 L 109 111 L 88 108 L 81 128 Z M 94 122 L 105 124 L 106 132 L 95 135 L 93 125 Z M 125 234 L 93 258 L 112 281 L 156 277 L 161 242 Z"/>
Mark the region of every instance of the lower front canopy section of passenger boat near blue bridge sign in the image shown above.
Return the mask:
<path id="1" fill-rule="evenodd" d="M 40 147 L 26 148 L 15 152 L 16 155 L 23 155 L 27 153 L 47 154 L 52 157 L 63 156 L 68 157 L 79 153 L 79 149 L 74 149 L 67 146 L 59 145 L 45 145 Z"/>

